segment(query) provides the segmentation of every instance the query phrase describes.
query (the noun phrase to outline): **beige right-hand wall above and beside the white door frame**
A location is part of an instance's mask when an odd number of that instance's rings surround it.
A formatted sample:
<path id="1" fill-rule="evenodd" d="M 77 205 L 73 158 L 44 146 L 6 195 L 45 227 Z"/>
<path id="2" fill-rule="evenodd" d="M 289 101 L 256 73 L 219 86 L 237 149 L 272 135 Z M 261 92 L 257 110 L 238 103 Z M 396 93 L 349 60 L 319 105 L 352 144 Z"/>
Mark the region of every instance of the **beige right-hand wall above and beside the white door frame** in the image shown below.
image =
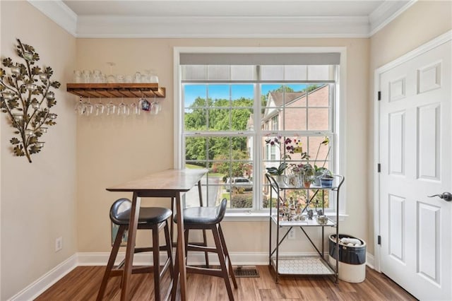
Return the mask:
<path id="1" fill-rule="evenodd" d="M 374 71 L 384 64 L 452 29 L 452 1 L 418 1 L 396 20 L 370 39 L 369 73 L 369 187 L 374 187 L 371 170 L 374 166 Z M 369 189 L 369 242 L 367 251 L 374 254 L 374 195 Z"/>

